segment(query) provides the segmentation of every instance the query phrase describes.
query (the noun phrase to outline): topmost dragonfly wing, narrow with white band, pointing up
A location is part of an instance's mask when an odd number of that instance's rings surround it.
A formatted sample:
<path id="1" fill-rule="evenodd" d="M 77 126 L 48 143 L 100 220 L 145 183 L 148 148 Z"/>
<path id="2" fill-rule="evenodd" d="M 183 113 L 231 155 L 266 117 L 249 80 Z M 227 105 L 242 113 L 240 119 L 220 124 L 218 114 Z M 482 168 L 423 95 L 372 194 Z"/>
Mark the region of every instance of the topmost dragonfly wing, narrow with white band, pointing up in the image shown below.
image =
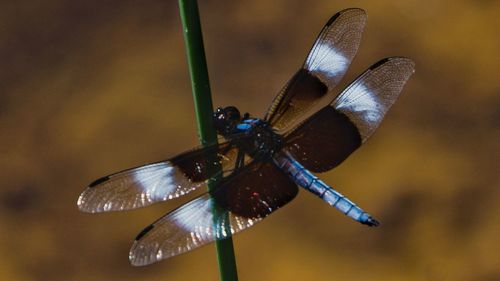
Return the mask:
<path id="1" fill-rule="evenodd" d="M 354 58 L 366 22 L 365 11 L 346 9 L 330 18 L 321 30 L 302 68 L 274 99 L 266 114 L 273 127 L 286 128 L 331 90 Z"/>

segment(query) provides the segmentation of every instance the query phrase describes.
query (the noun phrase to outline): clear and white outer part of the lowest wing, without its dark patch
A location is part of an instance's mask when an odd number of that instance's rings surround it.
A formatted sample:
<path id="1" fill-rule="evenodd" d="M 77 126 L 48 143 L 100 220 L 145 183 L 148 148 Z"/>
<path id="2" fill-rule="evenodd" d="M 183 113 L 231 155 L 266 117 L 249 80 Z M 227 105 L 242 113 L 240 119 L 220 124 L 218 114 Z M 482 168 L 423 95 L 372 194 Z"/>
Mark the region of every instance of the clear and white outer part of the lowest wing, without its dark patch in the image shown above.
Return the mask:
<path id="1" fill-rule="evenodd" d="M 205 193 L 145 228 L 130 249 L 132 265 L 148 265 L 185 253 L 228 237 L 260 220 L 232 213 L 214 215 L 213 208 L 214 199 Z"/>

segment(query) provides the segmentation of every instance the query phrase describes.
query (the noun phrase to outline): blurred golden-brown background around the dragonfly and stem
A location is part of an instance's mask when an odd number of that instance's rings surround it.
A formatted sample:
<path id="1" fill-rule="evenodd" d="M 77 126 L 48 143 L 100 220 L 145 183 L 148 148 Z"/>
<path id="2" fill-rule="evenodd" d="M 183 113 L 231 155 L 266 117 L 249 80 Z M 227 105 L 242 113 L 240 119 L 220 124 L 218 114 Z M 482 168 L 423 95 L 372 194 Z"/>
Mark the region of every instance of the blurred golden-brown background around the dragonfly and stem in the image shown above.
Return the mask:
<path id="1" fill-rule="evenodd" d="M 344 86 L 383 57 L 417 64 L 374 137 L 322 175 L 382 226 L 302 191 L 235 237 L 240 280 L 500 280 L 499 1 L 200 2 L 215 105 L 263 116 L 352 6 L 368 24 Z M 76 207 L 92 180 L 198 143 L 177 1 L 2 1 L 0 66 L 1 280 L 218 280 L 213 245 L 128 263 L 187 199 Z"/>

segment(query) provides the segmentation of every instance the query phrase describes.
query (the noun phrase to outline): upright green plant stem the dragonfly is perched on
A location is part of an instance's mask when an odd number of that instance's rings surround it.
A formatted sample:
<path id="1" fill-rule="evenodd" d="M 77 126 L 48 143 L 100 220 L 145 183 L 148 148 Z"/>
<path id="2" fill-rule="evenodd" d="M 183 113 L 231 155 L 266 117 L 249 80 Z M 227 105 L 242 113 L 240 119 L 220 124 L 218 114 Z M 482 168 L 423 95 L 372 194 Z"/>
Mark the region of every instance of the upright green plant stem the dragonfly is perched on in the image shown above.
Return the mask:
<path id="1" fill-rule="evenodd" d="M 211 145 L 217 142 L 217 134 L 213 126 L 213 105 L 210 95 L 210 83 L 208 79 L 205 50 L 203 47 L 203 36 L 201 32 L 198 4 L 196 0 L 179 0 L 179 9 L 182 20 L 184 41 L 191 75 L 191 86 L 193 90 L 196 120 L 198 123 L 199 137 L 202 145 Z M 209 161 L 213 162 L 213 161 Z M 212 169 L 220 167 L 212 167 Z M 212 190 L 216 181 L 208 183 L 208 189 Z M 228 216 L 218 208 L 213 209 L 214 217 L 218 215 Z M 228 221 L 228 220 L 226 220 Z M 214 224 L 216 222 L 214 221 Z M 233 241 L 231 237 L 216 240 L 217 260 L 221 281 L 236 281 L 238 274 L 236 270 L 236 259 L 234 256 Z"/>

